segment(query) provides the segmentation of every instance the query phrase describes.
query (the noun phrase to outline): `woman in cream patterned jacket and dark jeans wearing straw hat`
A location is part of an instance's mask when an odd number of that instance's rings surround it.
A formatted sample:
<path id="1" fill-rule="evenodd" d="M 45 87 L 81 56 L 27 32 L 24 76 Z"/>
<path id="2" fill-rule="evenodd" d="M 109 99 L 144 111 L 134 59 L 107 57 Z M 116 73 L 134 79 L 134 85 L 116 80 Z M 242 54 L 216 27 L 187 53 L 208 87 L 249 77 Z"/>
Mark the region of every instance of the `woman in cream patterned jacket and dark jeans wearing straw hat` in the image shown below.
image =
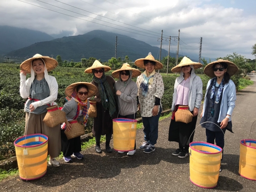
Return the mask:
<path id="1" fill-rule="evenodd" d="M 134 63 L 145 69 L 137 78 L 137 103 L 145 134 L 145 142 L 140 145 L 140 149 L 144 150 L 144 153 L 151 153 L 155 150 L 154 145 L 157 143 L 158 121 L 162 112 L 161 98 L 164 91 L 162 76 L 155 70 L 162 69 L 163 64 L 155 60 L 151 52 L 147 57 L 137 59 Z"/>

